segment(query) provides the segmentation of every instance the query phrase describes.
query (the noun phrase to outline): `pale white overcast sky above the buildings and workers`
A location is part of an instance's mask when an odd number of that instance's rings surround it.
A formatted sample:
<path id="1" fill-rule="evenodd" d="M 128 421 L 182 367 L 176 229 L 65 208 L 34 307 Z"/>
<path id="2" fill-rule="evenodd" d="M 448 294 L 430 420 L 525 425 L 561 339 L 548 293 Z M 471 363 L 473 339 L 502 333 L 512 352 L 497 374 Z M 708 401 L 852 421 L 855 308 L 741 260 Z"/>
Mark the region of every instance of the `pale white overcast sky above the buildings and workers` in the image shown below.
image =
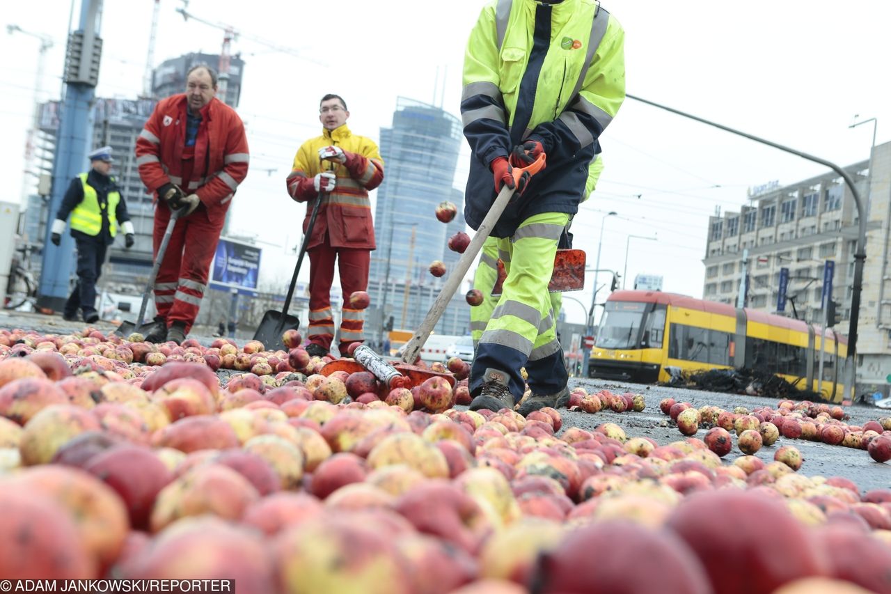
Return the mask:
<path id="1" fill-rule="evenodd" d="M 41 84 L 43 98 L 57 98 L 69 2 L 7 4 L 4 25 L 53 37 Z M 153 4 L 105 2 L 97 95 L 134 98 L 141 91 Z M 319 98 L 343 95 L 352 114 L 350 128 L 375 140 L 380 128 L 391 124 L 398 95 L 442 102 L 458 115 L 464 45 L 483 4 L 190 2 L 196 16 L 231 23 L 243 33 L 233 42 L 233 53 L 241 52 L 246 62 L 239 112 L 248 126 L 251 169 L 233 202 L 233 230 L 268 242 L 262 244 L 262 276 L 281 278 L 282 284 L 290 278 L 295 261 L 290 249 L 298 243 L 304 207 L 290 201 L 284 177 L 299 144 L 320 133 Z M 841 165 L 869 158 L 872 124 L 849 129 L 855 114 L 879 120 L 878 144 L 891 136 L 891 3 L 886 0 L 602 4 L 625 28 L 627 91 L 633 95 Z M 219 52 L 222 30 L 184 22 L 176 12 L 181 5 L 181 0 L 160 1 L 155 65 L 189 52 Z M 78 1 L 75 28 L 79 11 Z M 277 52 L 254 38 L 328 65 Z M 32 37 L 0 32 L 6 200 L 20 195 L 38 46 Z M 437 86 L 437 70 L 445 86 Z M 629 286 L 636 274 L 658 274 L 665 277 L 664 290 L 696 297 L 702 295 L 707 218 L 715 208 L 739 210 L 748 186 L 772 180 L 791 184 L 823 172 L 809 161 L 631 99 L 601 144 L 606 169 L 598 191 L 576 216 L 575 247 L 588 253 L 593 267 L 601 218 L 615 210 L 618 216 L 605 223 L 601 268 L 621 272 L 630 244 Z M 466 144 L 463 152 L 459 187 L 468 170 Z M 628 235 L 658 239 L 629 242 Z M 274 261 L 277 266 L 271 266 Z M 601 276 L 601 284 L 604 280 Z M 592 285 L 589 277 L 587 291 L 568 296 L 590 303 Z M 565 308 L 570 321 L 582 321 L 582 306 L 568 301 Z"/>

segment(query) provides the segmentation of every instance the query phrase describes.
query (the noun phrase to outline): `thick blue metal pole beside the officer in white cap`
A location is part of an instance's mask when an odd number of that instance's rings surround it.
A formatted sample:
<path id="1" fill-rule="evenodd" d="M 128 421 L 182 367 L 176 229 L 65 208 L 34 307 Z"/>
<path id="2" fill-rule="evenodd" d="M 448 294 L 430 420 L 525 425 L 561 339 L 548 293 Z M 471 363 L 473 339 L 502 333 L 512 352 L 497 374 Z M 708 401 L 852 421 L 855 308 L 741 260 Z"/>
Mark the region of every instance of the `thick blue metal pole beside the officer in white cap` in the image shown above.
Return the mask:
<path id="1" fill-rule="evenodd" d="M 80 6 L 80 31 L 84 32 L 84 45 L 99 35 L 102 0 L 84 0 Z M 67 76 L 67 73 L 66 73 Z M 86 155 L 93 142 L 94 86 L 86 82 L 66 82 L 62 103 L 56 153 L 53 159 L 53 193 L 50 198 L 49 217 L 44 237 L 43 265 L 40 270 L 40 286 L 37 306 L 59 311 L 68 299 L 69 278 L 75 260 L 74 239 L 66 232 L 61 235 L 61 245 L 50 242 L 52 221 L 61 207 L 62 198 L 69 183 L 78 173 L 88 168 Z"/>

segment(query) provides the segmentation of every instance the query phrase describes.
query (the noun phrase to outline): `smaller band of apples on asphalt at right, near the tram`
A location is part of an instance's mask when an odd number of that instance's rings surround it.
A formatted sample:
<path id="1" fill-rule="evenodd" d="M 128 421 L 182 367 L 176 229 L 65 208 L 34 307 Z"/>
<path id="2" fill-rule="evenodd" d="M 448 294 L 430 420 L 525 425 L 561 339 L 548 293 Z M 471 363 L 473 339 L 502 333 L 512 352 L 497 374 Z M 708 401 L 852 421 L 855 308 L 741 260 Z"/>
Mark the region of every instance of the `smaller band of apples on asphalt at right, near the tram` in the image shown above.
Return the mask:
<path id="1" fill-rule="evenodd" d="M 700 428 L 707 428 L 705 440 L 716 444 L 715 453 L 729 447 L 723 444 L 730 442 L 731 433 L 736 433 L 744 454 L 754 454 L 762 445 L 772 446 L 782 436 L 867 450 L 877 462 L 891 459 L 891 433 L 886 433 L 891 429 L 891 417 L 867 421 L 862 426 L 847 425 L 843 408 L 808 400 L 781 400 L 777 408 L 759 407 L 749 412 L 744 407 L 732 411 L 713 406 L 694 408 L 690 402 L 666 398 L 659 408 L 684 435 L 695 435 Z"/>

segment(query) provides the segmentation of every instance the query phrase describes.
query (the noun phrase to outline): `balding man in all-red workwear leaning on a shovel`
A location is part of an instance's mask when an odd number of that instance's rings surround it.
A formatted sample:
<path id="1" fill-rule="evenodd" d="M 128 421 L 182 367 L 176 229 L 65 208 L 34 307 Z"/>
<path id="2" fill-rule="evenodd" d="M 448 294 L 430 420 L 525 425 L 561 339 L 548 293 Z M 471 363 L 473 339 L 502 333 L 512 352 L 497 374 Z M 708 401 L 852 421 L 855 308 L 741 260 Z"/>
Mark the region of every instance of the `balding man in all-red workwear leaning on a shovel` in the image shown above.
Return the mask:
<path id="1" fill-rule="evenodd" d="M 139 176 L 158 197 L 156 256 L 171 212 L 185 207 L 155 279 L 158 317 L 145 337 L 150 342 L 180 343 L 192 328 L 226 210 L 248 175 L 244 125 L 216 94 L 217 72 L 194 66 L 186 92 L 161 100 L 136 140 Z"/>

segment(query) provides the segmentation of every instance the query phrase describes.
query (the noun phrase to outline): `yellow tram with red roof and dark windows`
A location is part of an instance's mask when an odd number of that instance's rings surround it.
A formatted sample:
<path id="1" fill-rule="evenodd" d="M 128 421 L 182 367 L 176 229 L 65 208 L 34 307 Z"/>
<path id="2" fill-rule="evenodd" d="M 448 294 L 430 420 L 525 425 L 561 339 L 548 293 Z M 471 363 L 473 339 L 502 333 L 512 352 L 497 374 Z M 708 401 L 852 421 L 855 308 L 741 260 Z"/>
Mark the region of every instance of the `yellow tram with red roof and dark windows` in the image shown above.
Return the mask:
<path id="1" fill-rule="evenodd" d="M 683 371 L 747 367 L 781 375 L 799 389 L 844 394 L 847 338 L 821 327 L 675 293 L 609 295 L 591 351 L 591 377 L 651 384 Z M 822 382 L 820 359 L 822 340 Z"/>

